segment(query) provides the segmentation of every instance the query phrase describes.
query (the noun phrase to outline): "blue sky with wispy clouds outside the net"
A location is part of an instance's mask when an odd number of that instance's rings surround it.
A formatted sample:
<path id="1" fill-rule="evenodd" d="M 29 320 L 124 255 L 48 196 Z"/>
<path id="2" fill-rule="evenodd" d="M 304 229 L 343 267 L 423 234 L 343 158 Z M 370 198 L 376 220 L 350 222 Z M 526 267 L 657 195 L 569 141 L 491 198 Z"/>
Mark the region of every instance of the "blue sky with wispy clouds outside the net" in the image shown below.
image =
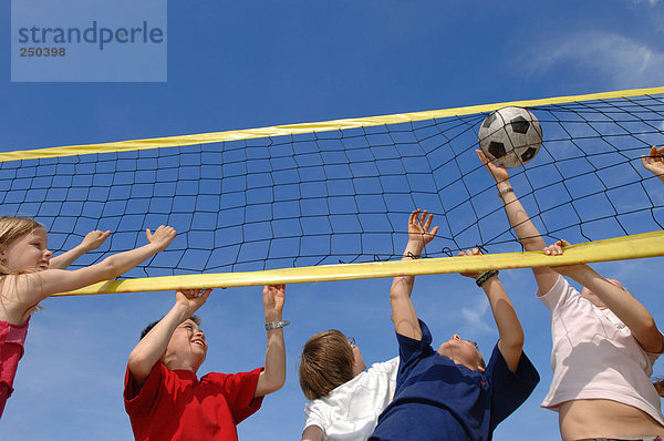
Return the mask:
<path id="1" fill-rule="evenodd" d="M 0 7 L 4 29 L 10 4 Z M 2 151 L 370 116 L 662 85 L 664 9 L 651 1 L 168 2 L 165 83 L 12 83 L 0 70 Z M 9 53 L 10 41 L 2 41 Z M 124 66 L 133 69 L 132 65 Z M 661 191 L 657 186 L 652 188 Z M 653 197 L 661 197 L 653 196 Z M 404 219 L 405 223 L 405 219 Z M 517 248 L 515 247 L 515 250 Z M 661 321 L 663 260 L 596 265 Z M 191 264 L 195 266 L 195 263 Z M 550 372 L 546 308 L 528 270 L 502 271 L 542 377 L 497 440 L 557 439 L 539 408 Z M 367 365 L 396 355 L 390 280 L 287 289 L 288 379 L 239 427 L 240 439 L 298 439 L 304 398 L 301 346 L 338 328 Z M 421 277 L 414 301 L 434 342 L 454 332 L 490 353 L 497 332 L 486 299 L 458 275 Z M 172 293 L 53 298 L 35 315 L 0 439 L 131 439 L 122 406 L 126 358 Z M 200 373 L 250 370 L 264 357 L 260 287 L 216 290 L 200 310 L 210 342 Z M 662 325 L 660 325 L 662 326 Z M 664 373 L 661 361 L 655 372 Z"/>

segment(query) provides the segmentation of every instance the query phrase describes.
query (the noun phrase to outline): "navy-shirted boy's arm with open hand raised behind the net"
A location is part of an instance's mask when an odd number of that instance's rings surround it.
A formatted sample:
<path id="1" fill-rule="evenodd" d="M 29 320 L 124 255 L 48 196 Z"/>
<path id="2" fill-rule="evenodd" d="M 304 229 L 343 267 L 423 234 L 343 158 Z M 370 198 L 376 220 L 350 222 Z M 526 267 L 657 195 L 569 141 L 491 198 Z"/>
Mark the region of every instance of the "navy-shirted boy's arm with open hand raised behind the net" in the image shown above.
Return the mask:
<path id="1" fill-rule="evenodd" d="M 432 242 L 438 232 L 438 227 L 430 228 L 434 215 L 427 216 L 419 209 L 411 213 L 408 218 L 408 244 L 404 250 L 402 260 L 419 258 L 424 246 Z M 430 230 L 429 230 L 430 229 Z M 415 284 L 415 276 L 398 276 L 392 281 L 390 289 L 390 305 L 392 306 L 392 321 L 396 334 L 414 340 L 422 339 L 422 329 L 417 320 L 417 314 L 411 301 L 411 293 Z"/>

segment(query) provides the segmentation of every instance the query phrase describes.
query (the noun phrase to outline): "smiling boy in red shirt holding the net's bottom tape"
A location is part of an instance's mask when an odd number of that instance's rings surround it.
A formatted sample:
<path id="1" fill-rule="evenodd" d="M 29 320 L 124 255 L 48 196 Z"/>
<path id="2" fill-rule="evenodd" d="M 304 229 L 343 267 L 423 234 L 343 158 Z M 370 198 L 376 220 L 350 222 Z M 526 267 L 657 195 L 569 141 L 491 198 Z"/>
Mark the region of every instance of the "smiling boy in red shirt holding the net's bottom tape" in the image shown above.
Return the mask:
<path id="1" fill-rule="evenodd" d="M 143 331 L 129 355 L 124 401 L 136 440 L 237 440 L 236 425 L 260 409 L 266 394 L 286 382 L 284 285 L 263 288 L 268 331 L 264 369 L 210 372 L 198 379 L 207 342 L 200 320 L 193 314 L 210 291 L 176 291 L 170 311 Z"/>

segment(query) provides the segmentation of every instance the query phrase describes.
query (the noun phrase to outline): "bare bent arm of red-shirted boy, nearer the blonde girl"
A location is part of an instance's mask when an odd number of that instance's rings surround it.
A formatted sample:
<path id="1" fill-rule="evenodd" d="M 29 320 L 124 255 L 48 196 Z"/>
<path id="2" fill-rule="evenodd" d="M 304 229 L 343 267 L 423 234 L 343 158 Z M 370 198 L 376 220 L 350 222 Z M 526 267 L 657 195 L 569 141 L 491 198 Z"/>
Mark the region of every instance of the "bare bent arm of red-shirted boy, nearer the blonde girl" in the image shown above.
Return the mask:
<path id="1" fill-rule="evenodd" d="M 175 293 L 175 305 L 158 324 L 138 341 L 129 353 L 128 367 L 138 389 L 145 384 L 149 372 L 157 363 L 180 324 L 187 320 L 209 297 L 211 289 L 183 289 Z"/>

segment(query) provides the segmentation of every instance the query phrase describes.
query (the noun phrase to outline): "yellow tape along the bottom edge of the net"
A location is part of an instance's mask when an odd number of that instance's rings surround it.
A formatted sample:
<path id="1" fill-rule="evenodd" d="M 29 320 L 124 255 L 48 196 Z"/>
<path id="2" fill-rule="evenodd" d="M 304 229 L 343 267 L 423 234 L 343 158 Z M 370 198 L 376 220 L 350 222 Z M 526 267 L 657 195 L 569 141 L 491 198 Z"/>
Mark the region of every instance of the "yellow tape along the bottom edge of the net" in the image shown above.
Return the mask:
<path id="1" fill-rule="evenodd" d="M 543 253 L 533 252 L 505 253 L 486 256 L 326 265 L 264 271 L 149 277 L 100 283 L 72 293 L 59 294 L 58 296 L 160 291 L 177 288 L 226 288 L 305 284 L 310 281 L 355 280 L 395 277 L 400 275 L 418 276 L 426 274 L 483 271 L 487 269 L 587 264 L 657 256 L 664 256 L 664 230 L 572 245 L 566 248 L 564 254 L 561 256 L 547 256 Z"/>

